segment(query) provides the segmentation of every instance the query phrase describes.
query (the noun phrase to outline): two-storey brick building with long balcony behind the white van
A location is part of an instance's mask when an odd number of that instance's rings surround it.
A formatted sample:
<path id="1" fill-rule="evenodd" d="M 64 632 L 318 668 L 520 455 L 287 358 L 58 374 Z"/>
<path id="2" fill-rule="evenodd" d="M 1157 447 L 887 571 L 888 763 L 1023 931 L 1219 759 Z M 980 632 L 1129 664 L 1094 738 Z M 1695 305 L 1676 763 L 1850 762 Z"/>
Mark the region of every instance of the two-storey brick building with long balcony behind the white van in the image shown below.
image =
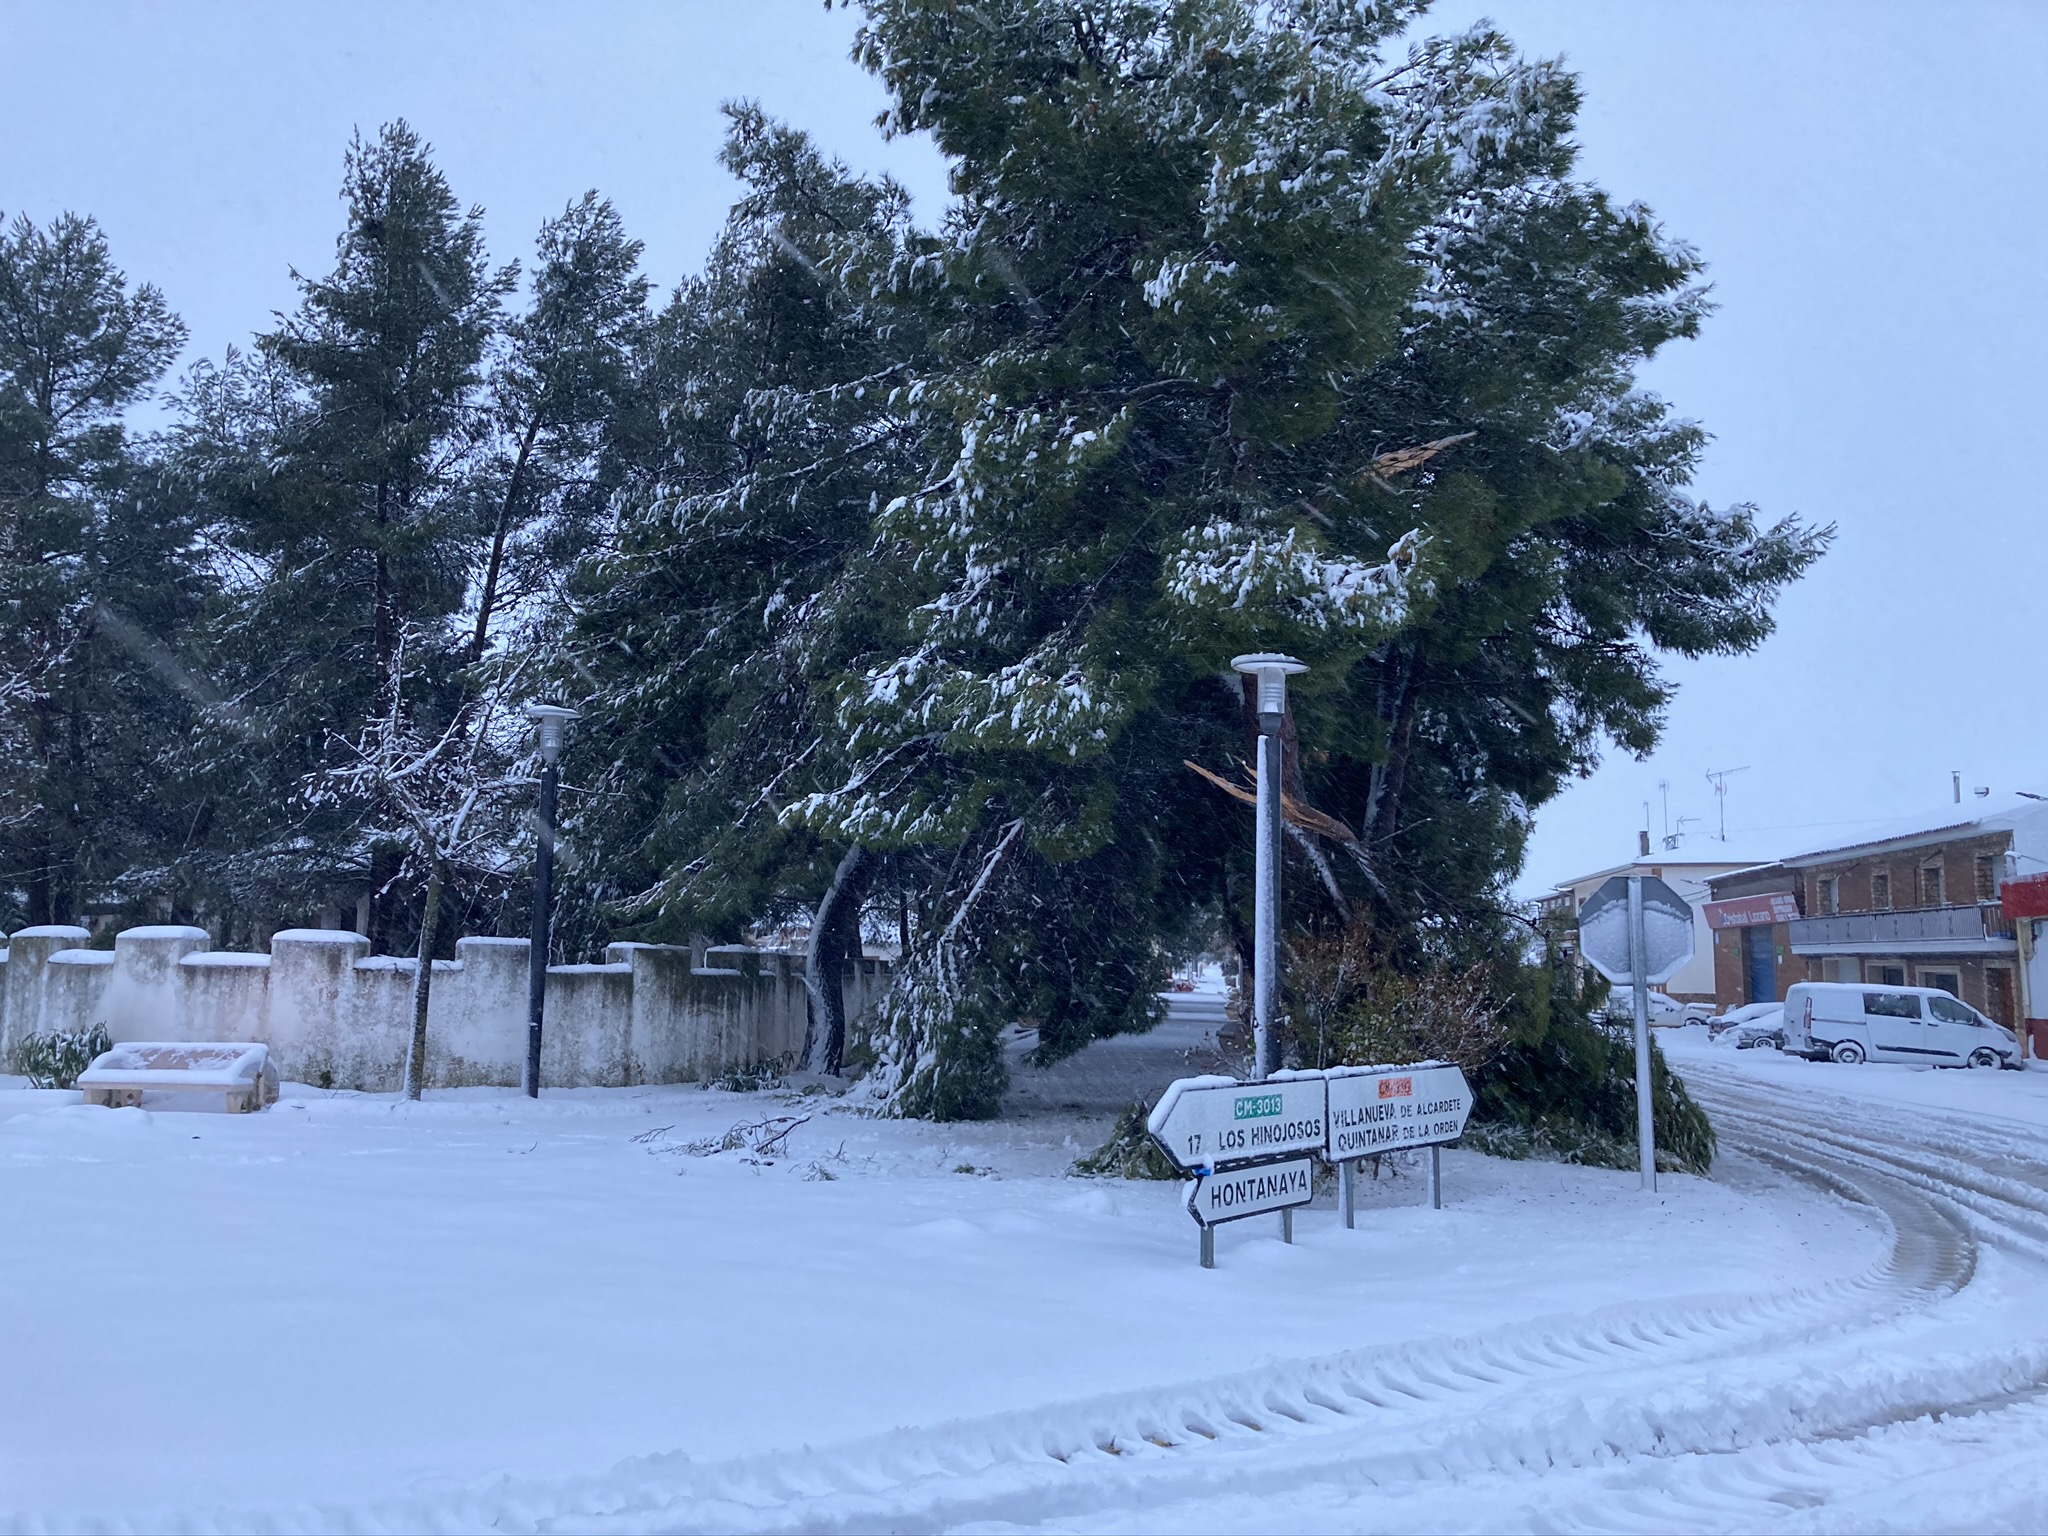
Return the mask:
<path id="1" fill-rule="evenodd" d="M 1796 981 L 1944 987 L 2019 1028 L 2044 989 L 2021 975 L 1999 887 L 2044 870 L 2048 803 L 2023 801 L 1718 874 L 1714 999 L 1776 1001 Z"/>

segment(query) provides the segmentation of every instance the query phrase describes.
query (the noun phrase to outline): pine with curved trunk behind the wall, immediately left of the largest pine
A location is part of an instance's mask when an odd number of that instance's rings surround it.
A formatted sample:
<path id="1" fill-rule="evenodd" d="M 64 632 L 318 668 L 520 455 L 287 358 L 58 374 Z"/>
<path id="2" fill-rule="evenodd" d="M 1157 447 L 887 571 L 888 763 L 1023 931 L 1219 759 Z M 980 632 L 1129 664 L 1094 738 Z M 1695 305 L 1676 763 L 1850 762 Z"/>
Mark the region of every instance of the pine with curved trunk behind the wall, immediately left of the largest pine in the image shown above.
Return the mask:
<path id="1" fill-rule="evenodd" d="M 621 915 L 666 938 L 737 938 L 813 918 L 811 1065 L 838 1071 L 840 961 L 877 868 L 858 836 L 782 821 L 844 766 L 831 696 L 887 596 L 868 582 L 879 498 L 915 467 L 891 403 L 911 326 L 860 301 L 899 246 L 907 199 L 827 162 L 752 106 L 725 164 L 745 184 L 707 272 L 647 352 L 659 432 L 639 453 L 614 549 L 582 580 L 575 672 L 596 678 L 571 766 L 596 793 L 571 838 Z M 645 887 L 621 881 L 643 872 Z M 584 881 L 586 899 L 596 895 Z"/>

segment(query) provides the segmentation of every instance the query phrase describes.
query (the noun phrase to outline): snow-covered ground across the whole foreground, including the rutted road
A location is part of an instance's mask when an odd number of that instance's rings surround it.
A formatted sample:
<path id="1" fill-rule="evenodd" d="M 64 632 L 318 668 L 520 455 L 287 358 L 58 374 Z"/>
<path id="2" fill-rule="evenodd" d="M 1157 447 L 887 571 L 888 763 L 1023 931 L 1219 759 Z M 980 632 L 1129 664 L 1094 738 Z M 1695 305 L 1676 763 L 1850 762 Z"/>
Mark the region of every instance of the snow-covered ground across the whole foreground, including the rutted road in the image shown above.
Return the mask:
<path id="1" fill-rule="evenodd" d="M 0 1528 L 2048 1522 L 2048 1075 L 1673 1040 L 1714 1180 L 1452 1151 L 1204 1272 L 1178 1186 L 1065 1169 L 1208 1004 L 987 1126 L 0 1087 Z"/>

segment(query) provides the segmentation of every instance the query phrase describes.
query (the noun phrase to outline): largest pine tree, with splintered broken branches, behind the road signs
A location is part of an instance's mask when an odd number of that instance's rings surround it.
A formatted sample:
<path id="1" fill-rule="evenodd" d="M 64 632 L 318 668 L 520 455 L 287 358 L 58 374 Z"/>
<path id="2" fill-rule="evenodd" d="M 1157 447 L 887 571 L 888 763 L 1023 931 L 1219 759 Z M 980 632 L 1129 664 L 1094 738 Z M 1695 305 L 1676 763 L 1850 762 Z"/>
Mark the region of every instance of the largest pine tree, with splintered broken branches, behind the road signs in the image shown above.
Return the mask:
<path id="1" fill-rule="evenodd" d="M 1243 922 L 1249 838 L 1182 768 L 1247 756 L 1233 651 L 1313 666 L 1294 891 L 1413 965 L 1511 956 L 1530 807 L 1655 737 L 1657 649 L 1755 645 L 1825 543 L 1683 494 L 1700 432 L 1632 369 L 1698 328 L 1700 262 L 1573 178 L 1571 76 L 1489 29 L 1389 57 L 1407 23 L 868 6 L 889 127 L 954 162 L 946 225 L 868 289 L 930 334 L 897 399 L 946 430 L 877 520 L 907 623 L 795 813 L 956 854 L 893 999 L 899 1106 L 993 1112 L 1012 883 L 1071 913 L 1055 1049 L 1143 1022 L 1075 956 L 1143 975 L 1190 903 Z"/>

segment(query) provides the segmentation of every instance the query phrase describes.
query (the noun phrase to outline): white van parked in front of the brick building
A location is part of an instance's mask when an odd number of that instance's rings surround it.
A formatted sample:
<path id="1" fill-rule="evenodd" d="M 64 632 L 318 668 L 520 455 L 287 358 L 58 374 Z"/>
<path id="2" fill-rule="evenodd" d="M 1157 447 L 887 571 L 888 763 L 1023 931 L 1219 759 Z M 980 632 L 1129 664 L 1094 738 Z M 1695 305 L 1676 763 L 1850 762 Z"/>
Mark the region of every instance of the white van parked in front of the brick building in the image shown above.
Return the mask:
<path id="1" fill-rule="evenodd" d="M 1800 981 L 1786 993 L 1786 1051 L 1812 1061 L 2017 1067 L 2019 1036 L 1939 987 Z"/>

